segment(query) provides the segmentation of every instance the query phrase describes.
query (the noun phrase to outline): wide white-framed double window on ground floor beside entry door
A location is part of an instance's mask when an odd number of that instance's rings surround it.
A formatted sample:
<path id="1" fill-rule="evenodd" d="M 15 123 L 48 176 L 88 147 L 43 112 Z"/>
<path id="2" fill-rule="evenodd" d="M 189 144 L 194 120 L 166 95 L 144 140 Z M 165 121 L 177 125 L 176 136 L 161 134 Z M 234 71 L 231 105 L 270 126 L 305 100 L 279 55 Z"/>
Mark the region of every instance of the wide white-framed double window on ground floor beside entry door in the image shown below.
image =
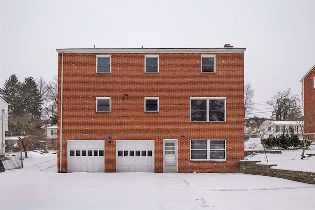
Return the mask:
<path id="1" fill-rule="evenodd" d="M 226 160 L 225 140 L 190 140 L 190 160 Z"/>

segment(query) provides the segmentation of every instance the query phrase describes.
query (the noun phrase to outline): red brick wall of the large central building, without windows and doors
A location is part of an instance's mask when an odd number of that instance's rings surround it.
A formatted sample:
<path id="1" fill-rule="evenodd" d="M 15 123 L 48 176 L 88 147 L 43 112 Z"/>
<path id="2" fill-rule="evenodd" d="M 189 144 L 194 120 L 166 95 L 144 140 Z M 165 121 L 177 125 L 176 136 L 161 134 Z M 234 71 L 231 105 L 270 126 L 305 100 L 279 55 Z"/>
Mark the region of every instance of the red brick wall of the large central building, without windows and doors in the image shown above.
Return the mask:
<path id="1" fill-rule="evenodd" d="M 178 172 L 238 172 L 244 158 L 243 53 L 208 53 L 216 54 L 216 73 L 200 72 L 206 53 L 158 54 L 159 73 L 144 73 L 142 53 L 111 54 L 111 73 L 96 73 L 99 54 L 63 54 L 62 172 L 67 139 L 105 139 L 105 172 L 116 170 L 115 140 L 155 140 L 155 172 L 162 172 L 163 139 L 178 139 Z M 58 61 L 60 100 L 61 54 Z M 95 111 L 96 97 L 111 97 L 110 113 Z M 144 112 L 144 97 L 159 97 L 158 113 Z M 226 97 L 226 122 L 190 122 L 190 97 Z M 60 106 L 58 147 L 59 125 Z M 226 139 L 226 161 L 191 161 L 190 139 Z"/>

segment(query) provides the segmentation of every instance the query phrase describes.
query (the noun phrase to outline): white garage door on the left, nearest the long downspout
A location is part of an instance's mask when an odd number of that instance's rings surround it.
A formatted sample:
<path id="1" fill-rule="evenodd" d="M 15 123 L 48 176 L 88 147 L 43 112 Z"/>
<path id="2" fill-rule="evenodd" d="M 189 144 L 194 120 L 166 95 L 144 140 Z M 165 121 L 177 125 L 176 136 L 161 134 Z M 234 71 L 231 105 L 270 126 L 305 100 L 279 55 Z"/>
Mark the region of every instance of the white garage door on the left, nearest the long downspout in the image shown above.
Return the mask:
<path id="1" fill-rule="evenodd" d="M 104 140 L 67 140 L 68 172 L 104 172 Z"/>

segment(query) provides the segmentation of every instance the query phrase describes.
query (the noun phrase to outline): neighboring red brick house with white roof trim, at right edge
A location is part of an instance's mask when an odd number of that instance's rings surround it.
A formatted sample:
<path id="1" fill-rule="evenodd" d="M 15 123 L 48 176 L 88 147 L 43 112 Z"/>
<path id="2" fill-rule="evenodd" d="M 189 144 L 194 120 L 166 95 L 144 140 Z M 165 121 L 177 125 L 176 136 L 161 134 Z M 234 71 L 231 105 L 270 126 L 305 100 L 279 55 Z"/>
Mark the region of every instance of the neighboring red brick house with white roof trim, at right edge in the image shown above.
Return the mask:
<path id="1" fill-rule="evenodd" d="M 309 130 L 310 139 L 315 140 L 315 65 L 303 76 L 300 82 L 302 82 L 305 132 Z"/>

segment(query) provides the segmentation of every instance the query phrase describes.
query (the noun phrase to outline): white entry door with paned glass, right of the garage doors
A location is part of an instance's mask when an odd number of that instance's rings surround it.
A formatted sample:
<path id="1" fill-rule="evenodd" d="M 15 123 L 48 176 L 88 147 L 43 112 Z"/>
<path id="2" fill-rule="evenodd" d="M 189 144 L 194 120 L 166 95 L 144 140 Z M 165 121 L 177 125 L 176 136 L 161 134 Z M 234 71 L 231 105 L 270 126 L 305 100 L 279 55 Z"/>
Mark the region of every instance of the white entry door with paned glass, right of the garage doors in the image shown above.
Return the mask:
<path id="1" fill-rule="evenodd" d="M 163 172 L 177 173 L 177 139 L 163 140 Z"/>

